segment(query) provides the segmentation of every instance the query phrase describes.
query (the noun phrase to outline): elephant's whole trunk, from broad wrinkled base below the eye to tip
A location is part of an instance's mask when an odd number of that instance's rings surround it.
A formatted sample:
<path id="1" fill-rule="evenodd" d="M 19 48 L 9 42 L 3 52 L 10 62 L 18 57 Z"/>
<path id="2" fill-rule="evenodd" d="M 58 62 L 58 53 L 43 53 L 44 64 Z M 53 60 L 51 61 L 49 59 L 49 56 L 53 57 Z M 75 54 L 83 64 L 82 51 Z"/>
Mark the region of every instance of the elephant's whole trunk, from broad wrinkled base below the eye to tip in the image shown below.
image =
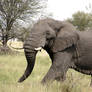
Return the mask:
<path id="1" fill-rule="evenodd" d="M 40 34 L 32 34 L 26 39 L 24 43 L 24 52 L 27 60 L 27 68 L 19 82 L 24 81 L 32 72 L 35 64 L 37 51 L 40 47 L 45 45 L 45 37 Z"/>

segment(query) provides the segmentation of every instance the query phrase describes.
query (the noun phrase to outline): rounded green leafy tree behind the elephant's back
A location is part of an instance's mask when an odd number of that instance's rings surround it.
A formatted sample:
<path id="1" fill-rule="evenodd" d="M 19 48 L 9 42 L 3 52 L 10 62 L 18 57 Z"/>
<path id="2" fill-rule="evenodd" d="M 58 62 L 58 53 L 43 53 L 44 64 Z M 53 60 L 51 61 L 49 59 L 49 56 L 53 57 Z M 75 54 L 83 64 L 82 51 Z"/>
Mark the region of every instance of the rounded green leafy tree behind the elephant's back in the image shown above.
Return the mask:
<path id="1" fill-rule="evenodd" d="M 84 31 L 92 26 L 92 14 L 78 11 L 68 21 L 76 26 L 78 30 Z"/>

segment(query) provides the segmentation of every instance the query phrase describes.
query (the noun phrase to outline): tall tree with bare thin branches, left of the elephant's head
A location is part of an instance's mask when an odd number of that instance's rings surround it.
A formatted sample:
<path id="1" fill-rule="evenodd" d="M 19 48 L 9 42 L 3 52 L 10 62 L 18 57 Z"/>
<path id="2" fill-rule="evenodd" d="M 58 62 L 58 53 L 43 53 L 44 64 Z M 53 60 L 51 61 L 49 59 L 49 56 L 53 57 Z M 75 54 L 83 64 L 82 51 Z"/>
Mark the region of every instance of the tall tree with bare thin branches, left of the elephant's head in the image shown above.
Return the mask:
<path id="1" fill-rule="evenodd" d="M 27 21 L 42 9 L 41 0 L 0 0 L 0 40 L 4 47 L 14 38 L 14 25 Z"/>

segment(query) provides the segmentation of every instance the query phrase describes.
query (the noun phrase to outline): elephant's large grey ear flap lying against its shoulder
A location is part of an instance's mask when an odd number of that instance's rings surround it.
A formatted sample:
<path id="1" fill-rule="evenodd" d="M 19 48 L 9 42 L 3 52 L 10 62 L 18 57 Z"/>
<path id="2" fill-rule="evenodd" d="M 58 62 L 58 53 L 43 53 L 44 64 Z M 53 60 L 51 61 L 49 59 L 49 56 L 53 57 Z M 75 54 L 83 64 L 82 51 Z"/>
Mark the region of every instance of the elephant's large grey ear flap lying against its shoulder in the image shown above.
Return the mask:
<path id="1" fill-rule="evenodd" d="M 63 51 L 66 48 L 77 44 L 79 35 L 75 31 L 60 31 L 54 41 L 52 51 L 58 52 Z"/>

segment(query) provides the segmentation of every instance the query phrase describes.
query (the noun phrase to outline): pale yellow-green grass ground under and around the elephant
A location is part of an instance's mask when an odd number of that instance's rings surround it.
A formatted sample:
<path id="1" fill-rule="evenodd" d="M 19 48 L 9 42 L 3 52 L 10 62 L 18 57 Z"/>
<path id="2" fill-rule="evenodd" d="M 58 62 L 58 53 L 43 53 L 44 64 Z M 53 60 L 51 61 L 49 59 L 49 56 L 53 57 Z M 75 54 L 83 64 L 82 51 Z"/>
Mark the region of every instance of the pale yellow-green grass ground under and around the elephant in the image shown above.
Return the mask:
<path id="1" fill-rule="evenodd" d="M 71 69 L 67 72 L 65 82 L 60 84 L 55 81 L 49 86 L 42 86 L 40 81 L 50 65 L 46 52 L 39 52 L 31 76 L 23 83 L 18 83 L 26 68 L 23 51 L 20 54 L 0 55 L 0 92 L 92 92 L 90 76 Z"/>

